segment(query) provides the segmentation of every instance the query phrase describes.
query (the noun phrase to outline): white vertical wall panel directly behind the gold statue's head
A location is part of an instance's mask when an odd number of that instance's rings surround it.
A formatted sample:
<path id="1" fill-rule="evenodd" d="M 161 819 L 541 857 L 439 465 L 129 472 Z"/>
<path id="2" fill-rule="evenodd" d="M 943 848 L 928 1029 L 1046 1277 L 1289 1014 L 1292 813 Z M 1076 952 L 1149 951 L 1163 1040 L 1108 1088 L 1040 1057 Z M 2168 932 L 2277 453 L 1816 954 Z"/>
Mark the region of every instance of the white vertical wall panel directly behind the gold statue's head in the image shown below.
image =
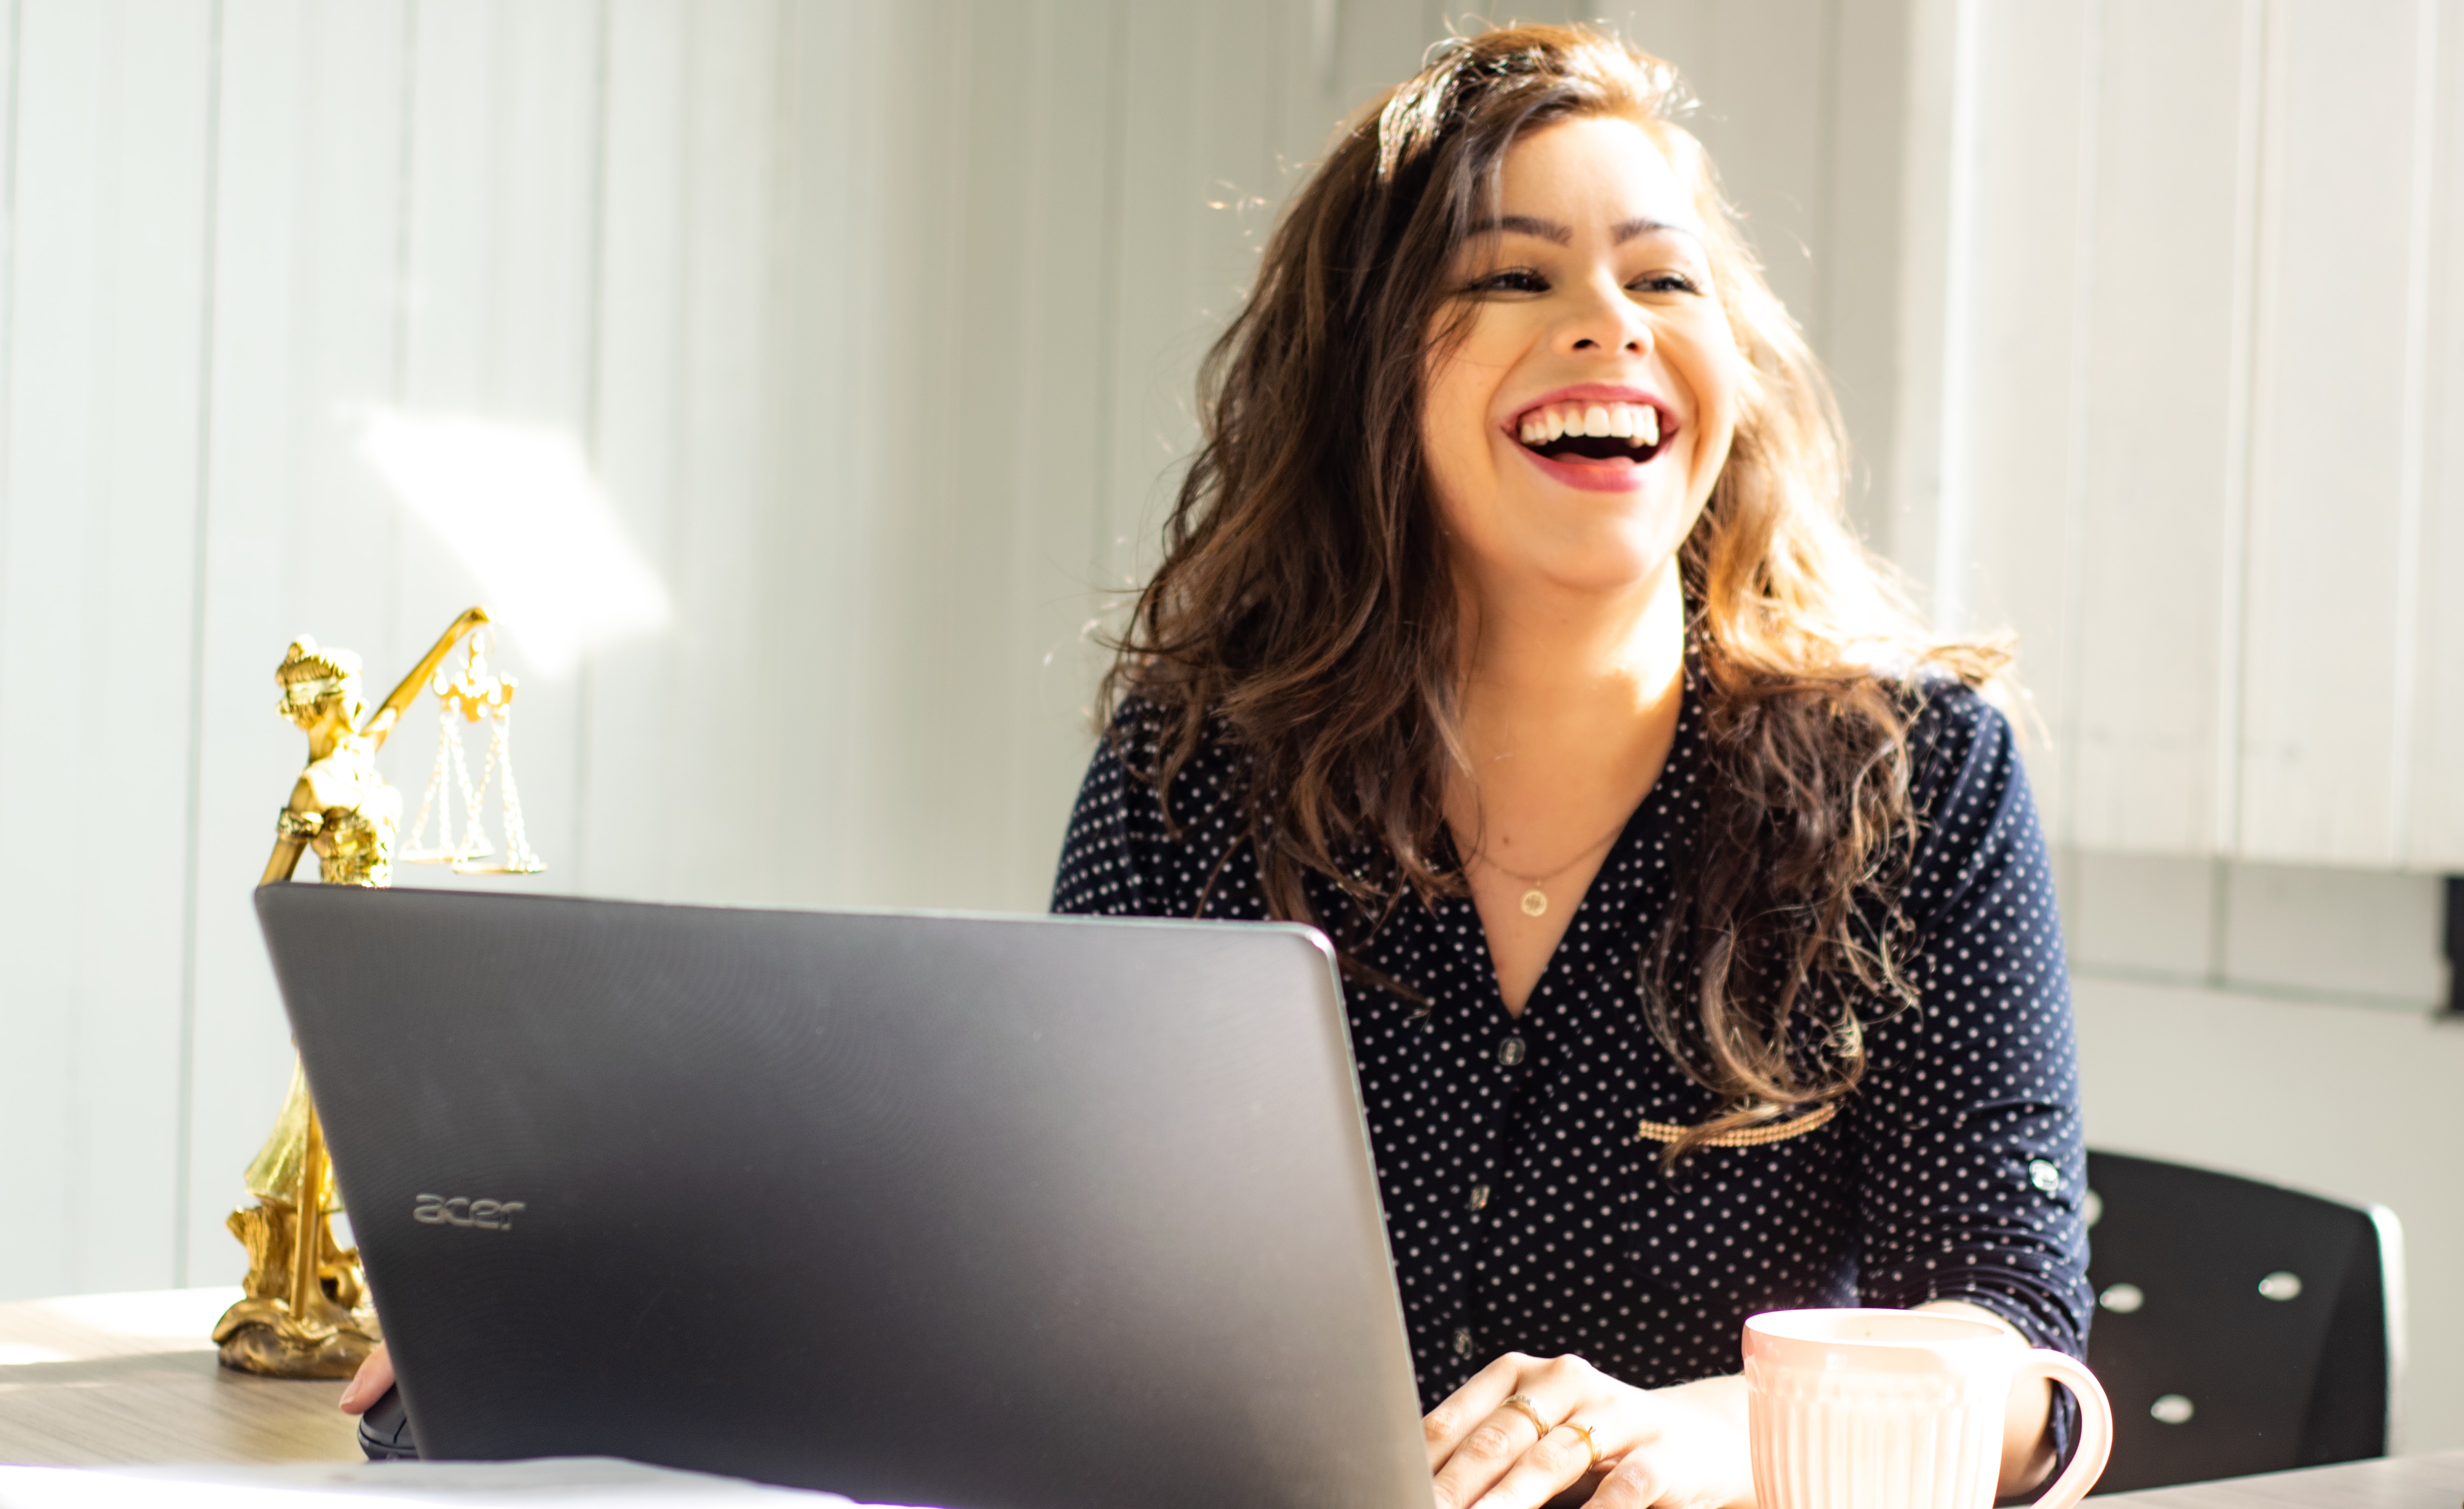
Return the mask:
<path id="1" fill-rule="evenodd" d="M 222 1218 L 291 1075 L 249 907 L 306 762 L 274 668 L 306 631 L 392 671 L 397 515 L 355 414 L 394 397 L 404 30 L 397 0 L 224 7 L 185 1282 L 246 1267 Z"/>

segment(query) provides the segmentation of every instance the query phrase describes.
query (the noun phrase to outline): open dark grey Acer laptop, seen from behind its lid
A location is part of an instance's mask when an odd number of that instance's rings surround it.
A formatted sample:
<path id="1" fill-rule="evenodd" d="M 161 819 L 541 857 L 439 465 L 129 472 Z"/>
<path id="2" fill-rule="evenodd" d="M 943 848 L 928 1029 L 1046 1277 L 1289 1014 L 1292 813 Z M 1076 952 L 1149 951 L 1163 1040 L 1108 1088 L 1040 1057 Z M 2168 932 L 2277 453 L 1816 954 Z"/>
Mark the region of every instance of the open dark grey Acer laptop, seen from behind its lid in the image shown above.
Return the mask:
<path id="1" fill-rule="evenodd" d="M 1429 1504 L 1316 932 L 342 885 L 256 912 L 424 1457 Z"/>

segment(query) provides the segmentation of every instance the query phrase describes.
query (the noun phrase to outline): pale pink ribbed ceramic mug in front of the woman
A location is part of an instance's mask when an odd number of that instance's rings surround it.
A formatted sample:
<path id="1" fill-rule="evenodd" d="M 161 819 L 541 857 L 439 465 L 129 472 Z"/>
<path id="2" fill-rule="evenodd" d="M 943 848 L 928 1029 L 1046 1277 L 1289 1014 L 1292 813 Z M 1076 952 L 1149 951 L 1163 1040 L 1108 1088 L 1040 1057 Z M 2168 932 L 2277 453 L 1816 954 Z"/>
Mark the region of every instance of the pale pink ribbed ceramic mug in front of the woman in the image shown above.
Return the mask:
<path id="1" fill-rule="evenodd" d="M 1762 1509 L 1988 1509 L 2011 1381 L 2080 1396 L 2080 1450 L 2038 1497 L 2087 1497 L 2114 1447 L 2097 1376 L 2001 1327 L 1912 1309 L 1774 1309 L 1745 1322 Z"/>

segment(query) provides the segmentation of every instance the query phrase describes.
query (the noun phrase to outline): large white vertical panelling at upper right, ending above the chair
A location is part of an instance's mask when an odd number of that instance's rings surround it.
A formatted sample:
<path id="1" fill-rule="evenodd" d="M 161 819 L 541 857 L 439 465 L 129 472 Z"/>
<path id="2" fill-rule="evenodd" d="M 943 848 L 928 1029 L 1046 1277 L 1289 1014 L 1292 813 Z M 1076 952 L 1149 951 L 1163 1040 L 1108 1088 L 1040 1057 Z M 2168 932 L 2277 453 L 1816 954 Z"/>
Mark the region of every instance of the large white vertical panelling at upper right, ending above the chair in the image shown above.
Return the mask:
<path id="1" fill-rule="evenodd" d="M 1895 552 L 2080 848 L 2464 868 L 2452 0 L 1927 0 Z M 1922 451 L 1922 454 L 1917 454 Z"/>

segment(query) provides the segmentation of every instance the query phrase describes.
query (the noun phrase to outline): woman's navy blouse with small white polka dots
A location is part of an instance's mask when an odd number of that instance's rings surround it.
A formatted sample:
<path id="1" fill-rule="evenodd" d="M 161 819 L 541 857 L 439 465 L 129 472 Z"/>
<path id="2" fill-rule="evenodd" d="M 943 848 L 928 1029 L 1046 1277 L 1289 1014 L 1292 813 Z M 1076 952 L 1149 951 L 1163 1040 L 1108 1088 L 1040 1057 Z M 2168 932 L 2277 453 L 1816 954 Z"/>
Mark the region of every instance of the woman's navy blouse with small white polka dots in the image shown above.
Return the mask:
<path id="1" fill-rule="evenodd" d="M 1156 708 L 1129 703 L 1114 740 L 1151 769 L 1161 730 Z M 2070 984 L 2028 782 L 2008 722 L 1964 685 L 1929 685 L 1910 740 L 1922 841 L 1902 905 L 1919 1006 L 1865 1028 L 1863 1085 L 1796 1137 L 1698 1149 L 1673 1174 L 1639 1137 L 1646 1119 L 1715 1110 L 1651 1036 L 1636 981 L 1708 779 L 1693 678 L 1666 772 L 1520 1018 L 1469 895 L 1404 902 L 1360 949 L 1429 1001 L 1348 986 L 1424 1403 L 1503 1351 L 1577 1354 L 1641 1388 L 1735 1373 L 1745 1317 L 1791 1307 L 1969 1299 L 2082 1354 Z M 1225 745 L 1183 767 L 1175 841 L 1106 742 L 1052 910 L 1266 917 L 1234 774 Z M 1331 900 L 1313 905 L 1333 915 Z"/>

